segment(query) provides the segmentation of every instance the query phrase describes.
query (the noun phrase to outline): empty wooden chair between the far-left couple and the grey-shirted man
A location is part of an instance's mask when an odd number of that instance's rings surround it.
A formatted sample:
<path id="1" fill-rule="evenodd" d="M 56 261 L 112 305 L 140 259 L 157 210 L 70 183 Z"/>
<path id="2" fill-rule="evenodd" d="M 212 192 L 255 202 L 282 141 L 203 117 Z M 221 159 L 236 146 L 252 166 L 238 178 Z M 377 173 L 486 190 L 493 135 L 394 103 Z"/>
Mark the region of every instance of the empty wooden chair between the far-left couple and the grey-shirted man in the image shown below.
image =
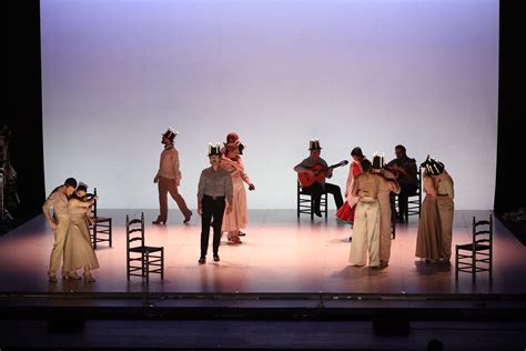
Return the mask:
<path id="1" fill-rule="evenodd" d="M 142 277 L 150 282 L 150 273 L 164 279 L 164 247 L 148 247 L 144 243 L 144 212 L 140 219 L 130 220 L 127 214 L 127 278 Z"/>

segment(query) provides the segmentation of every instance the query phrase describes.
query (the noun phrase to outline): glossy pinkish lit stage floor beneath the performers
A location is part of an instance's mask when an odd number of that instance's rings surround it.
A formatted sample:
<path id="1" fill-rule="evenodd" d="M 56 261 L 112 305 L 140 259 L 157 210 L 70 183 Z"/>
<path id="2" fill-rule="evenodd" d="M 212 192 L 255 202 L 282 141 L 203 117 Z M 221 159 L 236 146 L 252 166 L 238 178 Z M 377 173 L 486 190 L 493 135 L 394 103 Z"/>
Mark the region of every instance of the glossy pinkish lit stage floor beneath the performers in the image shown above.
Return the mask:
<path id="1" fill-rule="evenodd" d="M 165 277 L 152 274 L 145 288 L 141 278 L 127 281 L 125 214 L 141 210 L 100 210 L 113 218 L 113 247 L 100 243 L 95 250 L 100 269 L 94 283 L 60 280 L 49 283 L 47 270 L 53 233 L 39 215 L 0 238 L 0 293 L 247 293 L 247 294 L 524 294 L 526 292 L 526 248 L 495 220 L 494 278 L 461 273 L 455 280 L 454 259 L 449 264 L 426 264 L 414 257 L 417 218 L 397 224 L 392 241 L 390 265 L 383 270 L 351 267 L 348 225 L 334 220 L 296 218 L 294 210 L 251 210 L 242 244 L 220 247 L 220 262 L 213 262 L 210 247 L 206 264 L 199 265 L 200 217 L 194 210 L 190 224 L 171 210 L 166 225 L 153 225 L 156 211 L 146 210 L 146 243 L 163 245 Z M 456 211 L 453 248 L 471 240 L 472 217 L 487 218 L 486 211 Z"/>

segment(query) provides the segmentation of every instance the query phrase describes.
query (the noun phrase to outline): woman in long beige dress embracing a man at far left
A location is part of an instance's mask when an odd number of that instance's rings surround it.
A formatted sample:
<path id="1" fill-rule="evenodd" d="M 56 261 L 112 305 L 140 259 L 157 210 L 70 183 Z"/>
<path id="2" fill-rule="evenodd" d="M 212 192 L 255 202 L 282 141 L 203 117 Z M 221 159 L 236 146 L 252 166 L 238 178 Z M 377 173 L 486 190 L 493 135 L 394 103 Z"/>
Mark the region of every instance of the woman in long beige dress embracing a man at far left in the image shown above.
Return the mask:
<path id="1" fill-rule="evenodd" d="M 77 270 L 83 269 L 84 281 L 94 282 L 91 270 L 99 268 L 99 261 L 91 245 L 88 212 L 98 197 L 87 200 L 87 190 L 88 187 L 80 183 L 74 194 L 68 201 L 70 227 L 64 248 L 64 271 L 68 272 L 64 278 L 81 279 L 77 274 Z"/>

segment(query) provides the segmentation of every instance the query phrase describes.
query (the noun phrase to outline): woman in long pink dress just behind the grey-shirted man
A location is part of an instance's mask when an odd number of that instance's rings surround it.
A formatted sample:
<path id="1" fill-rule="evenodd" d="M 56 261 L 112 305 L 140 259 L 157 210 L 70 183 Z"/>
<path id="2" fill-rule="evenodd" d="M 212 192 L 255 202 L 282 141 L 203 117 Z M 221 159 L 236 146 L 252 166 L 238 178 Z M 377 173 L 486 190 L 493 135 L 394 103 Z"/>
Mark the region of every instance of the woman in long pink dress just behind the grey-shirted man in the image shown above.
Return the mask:
<path id="1" fill-rule="evenodd" d="M 240 157 L 240 154 L 243 153 L 243 144 L 239 140 L 227 143 L 224 150 L 225 153 L 221 161 L 221 167 L 227 170 L 232 177 L 232 185 L 234 190 L 232 211 L 230 213 L 224 213 L 221 231 L 229 233 L 229 241 L 232 243 L 241 243 L 240 230 L 246 228 L 246 224 L 249 223 L 246 192 L 243 182 L 249 184 L 249 190 L 255 189 L 244 171 L 243 161 Z"/>

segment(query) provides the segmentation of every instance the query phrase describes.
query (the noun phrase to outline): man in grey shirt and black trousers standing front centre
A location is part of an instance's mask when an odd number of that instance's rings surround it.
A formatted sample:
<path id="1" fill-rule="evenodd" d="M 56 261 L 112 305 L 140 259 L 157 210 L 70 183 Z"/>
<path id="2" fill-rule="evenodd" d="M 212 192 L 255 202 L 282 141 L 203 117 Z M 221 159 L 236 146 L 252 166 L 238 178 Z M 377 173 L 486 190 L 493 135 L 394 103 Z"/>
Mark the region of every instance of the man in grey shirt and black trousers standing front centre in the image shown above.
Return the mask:
<path id="1" fill-rule="evenodd" d="M 205 168 L 201 172 L 198 187 L 198 212 L 201 214 L 201 257 L 199 258 L 199 264 L 206 262 L 212 220 L 214 261 L 220 260 L 219 247 L 223 214 L 231 213 L 233 200 L 232 177 L 229 171 L 221 167 L 221 146 L 219 143 L 209 144 L 209 160 L 212 167 Z"/>

